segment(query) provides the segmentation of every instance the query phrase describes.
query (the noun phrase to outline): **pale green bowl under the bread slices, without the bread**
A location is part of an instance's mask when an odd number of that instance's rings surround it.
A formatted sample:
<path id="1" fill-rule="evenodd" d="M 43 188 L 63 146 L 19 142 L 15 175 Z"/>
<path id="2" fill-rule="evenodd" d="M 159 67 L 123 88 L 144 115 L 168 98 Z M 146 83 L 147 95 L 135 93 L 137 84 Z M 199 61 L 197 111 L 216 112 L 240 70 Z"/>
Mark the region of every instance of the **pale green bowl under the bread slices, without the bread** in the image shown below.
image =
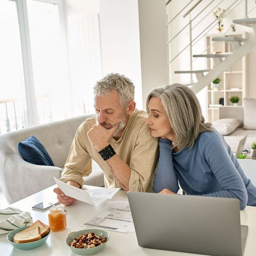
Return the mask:
<path id="1" fill-rule="evenodd" d="M 30 226 L 26 226 L 26 227 L 21 227 L 21 228 L 17 228 L 15 230 L 13 230 L 12 232 L 10 232 L 7 235 L 7 240 L 9 243 L 12 244 L 12 246 L 16 249 L 19 250 L 31 250 L 31 249 L 35 249 L 37 247 L 40 247 L 42 244 L 45 243 L 45 241 L 47 240 L 47 238 L 49 237 L 51 230 L 47 233 L 47 235 L 45 235 L 42 239 L 38 240 L 38 241 L 34 241 L 34 242 L 28 242 L 28 243 L 23 243 L 23 244 L 17 244 L 13 242 L 13 237 L 15 234 L 21 232 L 22 230 L 28 228 Z"/>

